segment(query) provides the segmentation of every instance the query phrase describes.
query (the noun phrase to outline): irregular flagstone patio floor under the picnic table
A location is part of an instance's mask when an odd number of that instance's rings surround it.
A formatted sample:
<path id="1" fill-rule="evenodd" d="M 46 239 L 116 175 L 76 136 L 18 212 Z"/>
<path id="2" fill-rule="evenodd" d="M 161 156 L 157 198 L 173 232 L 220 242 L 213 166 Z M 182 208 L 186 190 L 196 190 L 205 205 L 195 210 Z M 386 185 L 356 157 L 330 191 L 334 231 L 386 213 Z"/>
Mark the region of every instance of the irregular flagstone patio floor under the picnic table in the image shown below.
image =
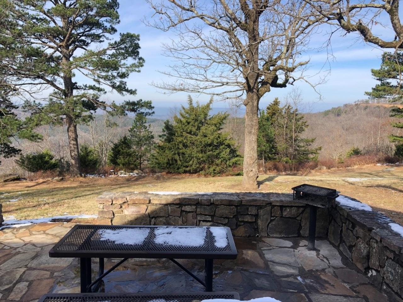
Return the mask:
<path id="1" fill-rule="evenodd" d="M 48 251 L 73 223 L 44 223 L 0 231 L 0 301 L 31 302 L 48 292 L 79 292 L 78 259 Z M 307 251 L 302 238 L 235 238 L 236 260 L 216 261 L 214 290 L 282 302 L 388 302 L 327 240 Z M 108 269 L 117 259 L 107 259 Z M 203 274 L 204 261 L 181 260 Z M 93 263 L 96 276 L 96 262 Z M 203 287 L 165 259 L 129 260 L 104 278 L 105 292 L 185 292 Z"/>

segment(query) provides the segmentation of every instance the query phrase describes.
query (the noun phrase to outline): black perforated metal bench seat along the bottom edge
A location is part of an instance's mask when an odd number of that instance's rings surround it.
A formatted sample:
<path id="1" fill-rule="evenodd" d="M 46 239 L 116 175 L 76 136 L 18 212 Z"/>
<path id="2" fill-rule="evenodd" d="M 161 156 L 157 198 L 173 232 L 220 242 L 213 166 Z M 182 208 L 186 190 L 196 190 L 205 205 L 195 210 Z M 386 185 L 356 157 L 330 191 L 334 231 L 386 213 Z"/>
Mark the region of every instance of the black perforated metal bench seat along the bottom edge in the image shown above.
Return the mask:
<path id="1" fill-rule="evenodd" d="M 168 293 L 138 293 L 138 294 L 47 294 L 42 296 L 38 302 L 149 302 L 149 301 L 177 301 L 192 302 L 194 300 L 207 299 L 235 299 L 239 295 L 235 292 L 194 292 L 187 294 Z"/>

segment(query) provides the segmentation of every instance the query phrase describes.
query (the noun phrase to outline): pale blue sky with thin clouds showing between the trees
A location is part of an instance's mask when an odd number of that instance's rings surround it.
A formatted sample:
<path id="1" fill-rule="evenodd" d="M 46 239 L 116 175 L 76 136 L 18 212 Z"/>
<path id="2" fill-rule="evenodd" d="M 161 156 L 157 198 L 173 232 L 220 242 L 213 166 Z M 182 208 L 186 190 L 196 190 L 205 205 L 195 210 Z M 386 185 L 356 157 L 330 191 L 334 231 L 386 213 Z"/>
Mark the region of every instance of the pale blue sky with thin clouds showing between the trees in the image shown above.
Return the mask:
<path id="1" fill-rule="evenodd" d="M 141 21 L 144 18 L 150 18 L 153 11 L 143 0 L 120 0 L 119 13 L 121 22 L 117 26 L 119 32 L 133 32 L 140 34 L 141 56 L 145 59 L 145 65 L 138 74 L 130 76 L 128 82 L 133 88 L 137 88 L 137 97 L 141 99 L 152 100 L 158 107 L 174 107 L 183 104 L 186 101 L 187 93 L 162 94 L 150 83 L 162 82 L 166 76 L 160 74 L 157 70 L 168 70 L 168 58 L 162 55 L 161 43 L 169 42 L 174 37 L 173 33 L 166 33 L 158 29 L 147 27 Z M 326 29 L 312 37 L 313 45 L 321 45 L 325 38 L 323 37 Z M 380 56 L 382 50 L 370 46 L 357 39 L 357 35 L 349 34 L 341 37 L 340 34 L 333 36 L 331 40 L 332 53 L 334 60 L 330 61 L 329 66 L 324 66 L 328 56 L 326 50 L 313 51 L 307 54 L 311 58 L 308 74 L 318 74 L 326 76 L 326 84 L 318 86 L 322 95 L 322 100 L 318 99 L 318 94 L 307 84 L 297 82 L 295 84 L 303 95 L 306 103 L 310 103 L 310 111 L 322 111 L 331 107 L 352 103 L 358 99 L 366 99 L 365 91 L 368 91 L 376 84 L 372 78 L 370 69 L 378 68 L 380 65 Z M 324 67 L 322 70 L 321 68 Z M 314 79 L 318 76 L 314 76 Z M 291 88 L 273 88 L 266 94 L 260 107 L 265 107 L 274 97 L 283 98 Z M 110 96 L 112 97 L 112 96 Z M 201 103 L 209 99 L 206 95 L 193 95 L 193 99 L 198 99 Z M 217 102 L 214 107 L 226 107 L 223 102 Z"/>

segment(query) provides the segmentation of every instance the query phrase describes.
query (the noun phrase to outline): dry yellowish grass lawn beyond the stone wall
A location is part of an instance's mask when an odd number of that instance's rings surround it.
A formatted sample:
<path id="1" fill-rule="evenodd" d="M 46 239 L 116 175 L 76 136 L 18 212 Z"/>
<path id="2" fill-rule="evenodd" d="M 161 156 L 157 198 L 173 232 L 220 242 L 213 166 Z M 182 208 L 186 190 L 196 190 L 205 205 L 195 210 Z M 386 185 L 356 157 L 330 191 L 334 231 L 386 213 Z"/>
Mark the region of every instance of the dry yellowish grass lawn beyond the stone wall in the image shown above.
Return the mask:
<path id="1" fill-rule="evenodd" d="M 243 191 L 242 177 L 197 177 L 162 175 L 17 181 L 1 184 L 4 216 L 17 219 L 57 215 L 97 214 L 96 196 L 104 191 Z M 260 175 L 260 192 L 287 192 L 302 183 L 335 188 L 368 203 L 403 224 L 403 167 L 362 166 L 307 174 Z M 11 200 L 11 201 L 10 201 Z"/>

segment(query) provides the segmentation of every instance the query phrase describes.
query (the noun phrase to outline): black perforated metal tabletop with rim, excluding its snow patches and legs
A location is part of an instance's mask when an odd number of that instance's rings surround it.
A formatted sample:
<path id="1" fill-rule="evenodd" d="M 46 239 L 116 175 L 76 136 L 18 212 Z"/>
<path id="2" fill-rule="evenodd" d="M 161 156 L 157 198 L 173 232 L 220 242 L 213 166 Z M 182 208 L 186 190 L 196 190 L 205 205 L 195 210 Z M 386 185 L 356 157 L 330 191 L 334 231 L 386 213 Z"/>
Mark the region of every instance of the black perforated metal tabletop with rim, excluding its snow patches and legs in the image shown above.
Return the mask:
<path id="1" fill-rule="evenodd" d="M 116 243 L 101 240 L 102 230 L 148 228 L 150 232 L 141 244 Z M 175 226 L 175 228 L 205 228 L 204 243 L 199 246 L 159 244 L 155 231 L 167 226 L 108 226 L 76 225 L 50 250 L 50 257 L 104 258 L 175 258 L 175 259 L 236 259 L 237 249 L 231 229 L 225 227 L 227 244 L 217 247 L 210 227 Z M 170 227 L 172 228 L 172 227 Z M 96 255 L 96 256 L 95 256 Z"/>

